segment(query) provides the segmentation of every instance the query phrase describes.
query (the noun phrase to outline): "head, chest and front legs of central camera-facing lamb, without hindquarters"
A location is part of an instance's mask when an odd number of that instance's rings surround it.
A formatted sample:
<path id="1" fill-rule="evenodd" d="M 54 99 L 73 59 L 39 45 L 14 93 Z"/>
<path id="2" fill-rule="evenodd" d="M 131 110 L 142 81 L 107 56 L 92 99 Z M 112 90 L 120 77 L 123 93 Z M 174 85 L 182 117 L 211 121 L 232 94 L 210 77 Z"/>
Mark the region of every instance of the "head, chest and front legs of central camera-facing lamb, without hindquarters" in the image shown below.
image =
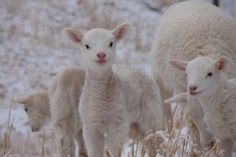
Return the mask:
<path id="1" fill-rule="evenodd" d="M 85 34 L 65 29 L 70 39 L 80 44 L 86 66 L 79 113 L 89 157 L 103 157 L 105 146 L 115 154 L 128 137 L 121 81 L 112 71 L 116 42 L 124 37 L 127 29 L 127 24 L 112 31 L 96 28 Z"/>

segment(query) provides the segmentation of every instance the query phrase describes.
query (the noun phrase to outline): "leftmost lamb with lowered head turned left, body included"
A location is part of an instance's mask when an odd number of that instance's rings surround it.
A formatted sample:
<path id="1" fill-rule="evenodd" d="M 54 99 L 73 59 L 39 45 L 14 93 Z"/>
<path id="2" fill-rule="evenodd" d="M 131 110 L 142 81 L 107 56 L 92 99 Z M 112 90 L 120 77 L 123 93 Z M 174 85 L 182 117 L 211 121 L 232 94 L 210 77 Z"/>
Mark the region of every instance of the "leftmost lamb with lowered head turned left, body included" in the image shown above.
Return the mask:
<path id="1" fill-rule="evenodd" d="M 39 91 L 15 100 L 24 104 L 32 131 L 39 131 L 50 119 L 56 135 L 57 156 L 75 156 L 74 139 L 79 145 L 80 157 L 87 156 L 77 112 L 84 78 L 84 70 L 65 68 L 57 73 L 49 92 Z"/>

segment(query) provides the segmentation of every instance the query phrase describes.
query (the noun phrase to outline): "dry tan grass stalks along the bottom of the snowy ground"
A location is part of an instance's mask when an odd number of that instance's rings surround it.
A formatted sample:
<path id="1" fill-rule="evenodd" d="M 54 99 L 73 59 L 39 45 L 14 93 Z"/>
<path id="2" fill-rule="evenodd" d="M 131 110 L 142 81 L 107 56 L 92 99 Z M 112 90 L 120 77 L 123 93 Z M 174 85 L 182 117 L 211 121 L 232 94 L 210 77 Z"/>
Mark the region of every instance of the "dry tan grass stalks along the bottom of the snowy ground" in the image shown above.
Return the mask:
<path id="1" fill-rule="evenodd" d="M 12 124 L 13 99 L 10 102 L 8 123 L 6 130 L 0 132 L 0 156 L 37 156 L 49 157 L 55 156 L 55 147 L 53 136 L 48 132 L 38 133 L 37 136 L 31 136 L 30 133 L 25 137 L 14 132 Z M 137 141 L 133 138 L 130 142 L 130 151 L 128 157 L 154 157 L 155 153 L 164 157 L 221 157 L 218 143 L 211 143 L 209 147 L 199 150 L 193 142 L 192 130 L 196 131 L 195 126 L 190 123 L 187 133 L 183 133 L 188 123 L 188 117 L 184 113 L 176 114 L 177 107 L 173 110 L 173 117 L 166 125 L 164 131 L 147 133 L 143 140 Z M 37 138 L 36 138 L 37 137 Z M 151 146 L 152 149 L 148 149 Z M 30 149 L 29 149 L 30 148 Z M 111 152 L 106 148 L 106 156 L 111 157 Z M 116 157 L 121 157 L 122 149 L 117 148 Z"/>

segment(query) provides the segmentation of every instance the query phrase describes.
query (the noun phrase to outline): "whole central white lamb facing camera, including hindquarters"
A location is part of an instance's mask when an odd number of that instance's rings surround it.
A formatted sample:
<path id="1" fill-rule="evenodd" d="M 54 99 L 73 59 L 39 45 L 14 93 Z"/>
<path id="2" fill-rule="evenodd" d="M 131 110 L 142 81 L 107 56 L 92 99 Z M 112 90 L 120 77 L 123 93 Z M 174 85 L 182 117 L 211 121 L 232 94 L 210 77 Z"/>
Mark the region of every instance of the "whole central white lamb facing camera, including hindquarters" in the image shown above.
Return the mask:
<path id="1" fill-rule="evenodd" d="M 80 45 L 86 67 L 79 112 L 90 157 L 102 157 L 105 145 L 115 154 L 117 146 L 128 139 L 130 126 L 142 131 L 162 126 L 162 108 L 153 81 L 128 67 L 112 70 L 116 42 L 125 36 L 127 29 L 127 24 L 121 24 L 111 31 L 96 28 L 85 34 L 70 28 L 65 30 Z"/>

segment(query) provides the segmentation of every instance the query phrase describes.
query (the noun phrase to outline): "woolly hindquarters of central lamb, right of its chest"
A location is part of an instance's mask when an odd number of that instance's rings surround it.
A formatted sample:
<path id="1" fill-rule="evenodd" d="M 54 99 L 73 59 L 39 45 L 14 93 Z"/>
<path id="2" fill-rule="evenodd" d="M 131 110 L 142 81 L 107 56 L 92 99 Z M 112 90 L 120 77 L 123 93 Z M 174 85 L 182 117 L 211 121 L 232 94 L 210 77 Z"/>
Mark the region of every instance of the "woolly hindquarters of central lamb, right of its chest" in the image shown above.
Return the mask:
<path id="1" fill-rule="evenodd" d="M 115 73 L 122 82 L 130 124 L 130 137 L 142 141 L 147 132 L 164 129 L 159 88 L 151 76 L 133 67 L 119 66 Z M 156 156 L 159 144 L 147 143 L 149 156 Z"/>

